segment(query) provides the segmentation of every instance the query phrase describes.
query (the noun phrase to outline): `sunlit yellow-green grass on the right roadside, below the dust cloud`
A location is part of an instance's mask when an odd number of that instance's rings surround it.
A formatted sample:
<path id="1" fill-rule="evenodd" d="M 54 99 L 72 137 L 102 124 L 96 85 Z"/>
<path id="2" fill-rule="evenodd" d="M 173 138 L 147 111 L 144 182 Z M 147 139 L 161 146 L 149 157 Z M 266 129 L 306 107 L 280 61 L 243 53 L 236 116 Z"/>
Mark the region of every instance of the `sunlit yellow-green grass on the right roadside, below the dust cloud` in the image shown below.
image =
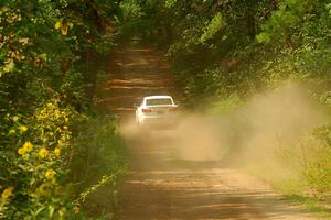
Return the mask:
<path id="1" fill-rule="evenodd" d="M 289 195 L 290 199 L 313 209 L 312 211 L 328 216 L 330 212 L 327 211 L 327 206 L 331 190 L 330 136 L 330 125 L 323 125 L 308 132 L 290 147 L 280 146 L 279 163 L 286 164 L 287 172 L 292 175 L 279 178 L 280 174 L 269 169 L 275 176 L 270 183 L 277 189 Z"/>

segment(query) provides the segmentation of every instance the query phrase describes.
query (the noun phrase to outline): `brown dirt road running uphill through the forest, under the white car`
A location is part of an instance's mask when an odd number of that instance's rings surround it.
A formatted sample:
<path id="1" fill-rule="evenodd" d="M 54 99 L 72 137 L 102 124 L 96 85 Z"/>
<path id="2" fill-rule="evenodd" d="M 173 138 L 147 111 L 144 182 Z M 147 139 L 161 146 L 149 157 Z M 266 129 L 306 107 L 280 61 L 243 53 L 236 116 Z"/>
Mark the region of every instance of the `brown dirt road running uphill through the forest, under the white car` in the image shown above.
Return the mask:
<path id="1" fill-rule="evenodd" d="M 180 130 L 137 130 L 130 123 L 134 102 L 146 95 L 177 91 L 167 61 L 162 53 L 135 45 L 116 50 L 110 58 L 102 101 L 120 116 L 134 152 L 119 191 L 117 219 L 316 219 L 289 205 L 265 183 L 212 155 L 199 160 L 203 143 L 185 150 L 194 151 L 194 157 L 183 156 Z M 185 135 L 194 143 L 203 127 L 193 130 Z"/>

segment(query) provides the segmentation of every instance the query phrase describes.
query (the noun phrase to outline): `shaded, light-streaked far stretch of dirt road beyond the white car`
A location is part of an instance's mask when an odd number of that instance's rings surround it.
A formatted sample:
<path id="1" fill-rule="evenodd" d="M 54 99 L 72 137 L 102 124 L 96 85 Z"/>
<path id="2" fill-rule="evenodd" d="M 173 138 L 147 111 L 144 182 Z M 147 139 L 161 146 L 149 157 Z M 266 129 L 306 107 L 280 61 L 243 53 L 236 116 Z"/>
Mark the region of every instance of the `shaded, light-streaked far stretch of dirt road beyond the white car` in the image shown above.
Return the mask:
<path id="1" fill-rule="evenodd" d="M 120 120 L 126 120 L 134 114 L 134 103 L 140 102 L 143 96 L 178 95 L 164 57 L 153 53 L 145 47 L 115 50 L 106 80 L 100 82 L 103 89 L 98 92 L 102 98 L 97 102 L 120 116 Z"/>

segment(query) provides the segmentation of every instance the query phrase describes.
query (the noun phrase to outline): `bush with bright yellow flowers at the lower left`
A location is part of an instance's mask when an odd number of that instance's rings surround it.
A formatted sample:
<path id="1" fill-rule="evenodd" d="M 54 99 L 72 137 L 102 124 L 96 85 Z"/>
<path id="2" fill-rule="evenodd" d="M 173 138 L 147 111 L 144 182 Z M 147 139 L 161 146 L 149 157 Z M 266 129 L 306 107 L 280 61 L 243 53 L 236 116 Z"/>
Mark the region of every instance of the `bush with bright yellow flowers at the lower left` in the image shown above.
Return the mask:
<path id="1" fill-rule="evenodd" d="M 71 123 L 77 113 L 51 100 L 30 118 L 7 113 L 1 128 L 0 213 L 3 218 L 62 219 L 71 212 L 64 176 Z M 3 146 L 3 145 L 2 145 Z M 28 218 L 28 219 L 29 219 Z"/>

